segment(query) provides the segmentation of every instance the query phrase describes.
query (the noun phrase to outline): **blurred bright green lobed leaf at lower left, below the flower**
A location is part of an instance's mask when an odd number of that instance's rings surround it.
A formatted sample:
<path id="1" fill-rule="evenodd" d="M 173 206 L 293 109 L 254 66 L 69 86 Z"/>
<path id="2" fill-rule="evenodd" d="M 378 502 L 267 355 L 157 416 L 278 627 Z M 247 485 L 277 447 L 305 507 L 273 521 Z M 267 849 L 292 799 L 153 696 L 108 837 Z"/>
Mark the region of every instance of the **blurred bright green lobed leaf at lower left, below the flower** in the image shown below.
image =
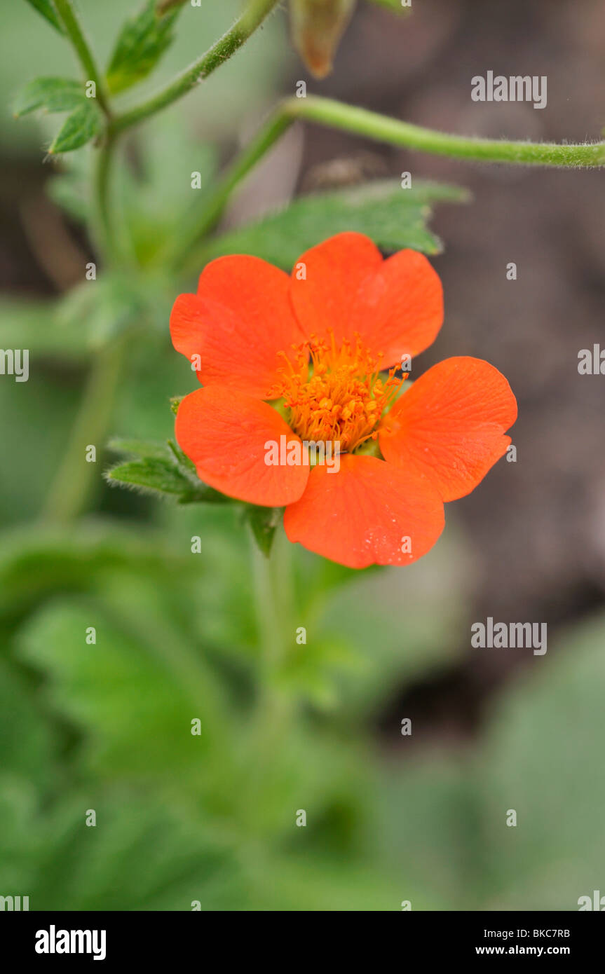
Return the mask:
<path id="1" fill-rule="evenodd" d="M 111 778 L 194 770 L 228 742 L 221 688 L 163 590 L 166 604 L 155 584 L 118 571 L 102 598 L 52 600 L 19 631 L 20 653 L 46 674 L 45 705 L 81 735 L 82 764 Z"/>

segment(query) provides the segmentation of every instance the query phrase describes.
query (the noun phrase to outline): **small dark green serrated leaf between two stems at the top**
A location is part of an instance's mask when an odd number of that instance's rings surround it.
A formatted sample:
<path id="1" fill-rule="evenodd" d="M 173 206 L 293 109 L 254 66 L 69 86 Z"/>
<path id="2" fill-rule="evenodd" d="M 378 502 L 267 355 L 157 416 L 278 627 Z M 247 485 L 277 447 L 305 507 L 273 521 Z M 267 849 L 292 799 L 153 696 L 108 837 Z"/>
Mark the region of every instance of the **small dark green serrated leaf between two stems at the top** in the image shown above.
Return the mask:
<path id="1" fill-rule="evenodd" d="M 173 40 L 172 25 L 179 10 L 156 14 L 156 0 L 147 0 L 135 17 L 126 21 L 107 68 L 107 85 L 118 94 L 153 71 Z"/>

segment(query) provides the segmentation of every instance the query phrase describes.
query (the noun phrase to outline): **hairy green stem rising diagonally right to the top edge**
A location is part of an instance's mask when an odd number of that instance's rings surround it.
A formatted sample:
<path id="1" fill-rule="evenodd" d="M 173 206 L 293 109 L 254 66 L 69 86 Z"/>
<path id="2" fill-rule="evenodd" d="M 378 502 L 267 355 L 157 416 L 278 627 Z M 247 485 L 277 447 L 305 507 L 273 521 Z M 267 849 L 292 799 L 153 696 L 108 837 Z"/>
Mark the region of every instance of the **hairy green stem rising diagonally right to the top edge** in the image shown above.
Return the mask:
<path id="1" fill-rule="evenodd" d="M 131 108 L 130 111 L 119 115 L 112 122 L 112 131 L 119 132 L 130 129 L 131 126 L 142 122 L 143 119 L 155 115 L 166 108 L 173 101 L 182 97 L 195 88 L 198 82 L 208 78 L 208 75 L 223 61 L 238 51 L 263 20 L 277 7 L 280 0 L 248 0 L 246 10 L 206 54 L 193 61 L 189 67 L 181 71 L 166 88 L 152 95 Z"/>

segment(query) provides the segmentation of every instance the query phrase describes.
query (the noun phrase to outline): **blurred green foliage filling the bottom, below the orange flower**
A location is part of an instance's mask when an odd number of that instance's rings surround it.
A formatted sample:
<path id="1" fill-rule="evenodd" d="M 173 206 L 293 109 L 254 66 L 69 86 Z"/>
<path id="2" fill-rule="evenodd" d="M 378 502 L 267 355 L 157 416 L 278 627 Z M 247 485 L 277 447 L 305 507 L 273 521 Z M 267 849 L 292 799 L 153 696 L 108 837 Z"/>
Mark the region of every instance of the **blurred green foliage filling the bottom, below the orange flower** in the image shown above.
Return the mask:
<path id="1" fill-rule="evenodd" d="M 605 620 L 534 657 L 477 745 L 410 762 L 394 724 L 381 756 L 368 717 L 455 658 L 460 540 L 361 576 L 297 550 L 307 645 L 292 629 L 279 680 L 286 706 L 307 703 L 258 726 L 239 520 L 162 510 L 162 531 L 5 540 L 3 888 L 34 909 L 125 910 L 573 910 L 600 888 Z"/>

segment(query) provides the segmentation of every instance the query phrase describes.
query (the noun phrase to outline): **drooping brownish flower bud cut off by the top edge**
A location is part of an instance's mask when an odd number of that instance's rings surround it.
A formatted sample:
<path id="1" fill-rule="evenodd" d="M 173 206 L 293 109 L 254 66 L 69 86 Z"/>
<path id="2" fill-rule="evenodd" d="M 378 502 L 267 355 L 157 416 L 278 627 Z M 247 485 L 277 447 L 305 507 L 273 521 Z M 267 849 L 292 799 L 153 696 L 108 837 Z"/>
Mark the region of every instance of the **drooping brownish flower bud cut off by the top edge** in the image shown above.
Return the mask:
<path id="1" fill-rule="evenodd" d="M 356 0 L 290 0 L 294 47 L 316 78 L 332 69 L 332 59 Z"/>

